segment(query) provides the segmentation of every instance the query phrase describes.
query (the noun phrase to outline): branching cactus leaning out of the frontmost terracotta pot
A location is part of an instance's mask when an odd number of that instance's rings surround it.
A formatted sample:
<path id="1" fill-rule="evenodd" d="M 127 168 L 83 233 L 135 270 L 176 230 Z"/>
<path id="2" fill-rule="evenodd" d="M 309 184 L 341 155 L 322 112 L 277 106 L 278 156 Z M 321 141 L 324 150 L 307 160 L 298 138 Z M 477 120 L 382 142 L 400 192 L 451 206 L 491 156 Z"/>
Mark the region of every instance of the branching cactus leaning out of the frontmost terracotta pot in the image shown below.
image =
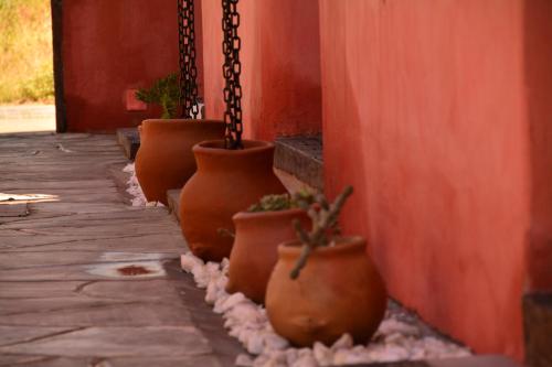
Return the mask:
<path id="1" fill-rule="evenodd" d="M 341 235 L 339 229 L 339 213 L 346 203 L 347 198 L 352 194 L 352 186 L 347 186 L 341 194 L 338 195 L 336 201 L 331 204 L 323 194 L 314 196 L 312 202 L 297 199 L 299 207 L 307 211 L 308 216 L 312 220 L 312 229 L 305 230 L 299 220 L 294 220 L 295 231 L 297 237 L 302 242 L 302 250 L 297 260 L 291 273 L 291 279 L 297 279 L 301 269 L 307 263 L 310 252 L 317 247 L 335 246 L 335 239 Z"/>

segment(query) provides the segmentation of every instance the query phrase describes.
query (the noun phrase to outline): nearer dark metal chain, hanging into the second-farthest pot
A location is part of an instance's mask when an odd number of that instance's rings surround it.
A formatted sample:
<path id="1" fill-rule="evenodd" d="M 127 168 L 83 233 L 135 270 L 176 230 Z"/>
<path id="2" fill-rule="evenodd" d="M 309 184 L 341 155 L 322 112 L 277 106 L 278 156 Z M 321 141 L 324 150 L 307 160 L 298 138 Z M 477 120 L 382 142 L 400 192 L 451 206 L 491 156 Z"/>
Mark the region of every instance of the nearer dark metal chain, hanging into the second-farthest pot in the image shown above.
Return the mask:
<path id="1" fill-rule="evenodd" d="M 242 86 L 240 75 L 242 64 L 240 63 L 240 48 L 242 40 L 237 35 L 240 26 L 240 14 L 237 2 L 240 0 L 222 0 L 222 30 L 224 41 L 222 51 L 224 53 L 224 65 L 222 73 L 225 79 L 224 101 L 226 111 L 224 122 L 226 123 L 226 149 L 242 149 Z"/>

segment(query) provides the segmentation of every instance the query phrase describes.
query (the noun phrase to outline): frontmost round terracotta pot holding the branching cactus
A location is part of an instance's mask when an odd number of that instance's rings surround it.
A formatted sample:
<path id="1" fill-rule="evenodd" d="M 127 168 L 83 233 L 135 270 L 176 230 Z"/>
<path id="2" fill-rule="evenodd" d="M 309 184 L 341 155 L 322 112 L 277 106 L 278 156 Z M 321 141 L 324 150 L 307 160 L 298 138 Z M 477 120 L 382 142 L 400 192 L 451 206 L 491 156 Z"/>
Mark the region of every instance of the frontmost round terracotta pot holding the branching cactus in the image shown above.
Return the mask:
<path id="1" fill-rule="evenodd" d="M 317 248 L 293 280 L 289 273 L 300 252 L 297 240 L 278 247 L 266 291 L 274 330 L 299 346 L 317 341 L 331 345 L 344 333 L 368 342 L 384 316 L 386 292 L 364 239 L 348 237 L 335 247 Z"/>

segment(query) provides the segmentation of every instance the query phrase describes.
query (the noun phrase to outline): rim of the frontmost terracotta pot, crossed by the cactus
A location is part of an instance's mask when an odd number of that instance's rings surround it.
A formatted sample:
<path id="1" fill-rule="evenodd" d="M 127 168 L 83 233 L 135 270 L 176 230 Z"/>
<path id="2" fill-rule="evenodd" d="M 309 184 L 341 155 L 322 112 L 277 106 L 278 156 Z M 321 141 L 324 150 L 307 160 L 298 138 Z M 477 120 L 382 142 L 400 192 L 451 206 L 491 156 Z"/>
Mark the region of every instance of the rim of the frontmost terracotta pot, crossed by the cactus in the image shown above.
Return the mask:
<path id="1" fill-rule="evenodd" d="M 344 242 L 344 244 L 343 244 Z M 338 239 L 338 245 L 333 247 L 317 247 L 310 252 L 311 257 L 328 257 L 354 252 L 359 249 L 365 249 L 367 240 L 362 236 L 344 236 Z M 279 256 L 286 258 L 298 258 L 302 249 L 302 244 L 298 239 L 293 239 L 278 245 Z"/>

